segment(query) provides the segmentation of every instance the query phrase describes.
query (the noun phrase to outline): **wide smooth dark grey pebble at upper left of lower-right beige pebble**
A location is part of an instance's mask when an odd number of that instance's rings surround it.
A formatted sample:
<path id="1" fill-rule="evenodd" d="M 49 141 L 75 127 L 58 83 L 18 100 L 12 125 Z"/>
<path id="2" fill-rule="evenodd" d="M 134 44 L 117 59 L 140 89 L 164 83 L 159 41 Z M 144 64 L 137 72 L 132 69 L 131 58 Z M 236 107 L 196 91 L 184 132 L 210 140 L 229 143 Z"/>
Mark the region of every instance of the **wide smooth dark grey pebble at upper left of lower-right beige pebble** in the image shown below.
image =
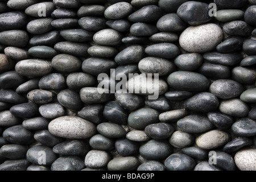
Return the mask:
<path id="1" fill-rule="evenodd" d="M 214 128 L 207 115 L 191 114 L 177 121 L 177 127 L 187 133 L 203 133 Z"/>

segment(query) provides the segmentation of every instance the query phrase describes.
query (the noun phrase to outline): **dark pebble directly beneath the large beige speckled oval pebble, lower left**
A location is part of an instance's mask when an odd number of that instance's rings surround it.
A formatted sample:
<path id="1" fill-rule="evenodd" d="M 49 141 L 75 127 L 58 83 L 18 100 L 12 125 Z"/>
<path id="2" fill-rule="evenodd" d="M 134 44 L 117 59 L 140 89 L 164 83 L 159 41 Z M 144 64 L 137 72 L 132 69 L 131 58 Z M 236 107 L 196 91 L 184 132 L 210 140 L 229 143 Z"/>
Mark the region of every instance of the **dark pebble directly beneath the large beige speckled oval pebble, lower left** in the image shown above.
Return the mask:
<path id="1" fill-rule="evenodd" d="M 56 144 L 52 151 L 59 155 L 86 155 L 90 145 L 85 140 L 72 139 Z"/>

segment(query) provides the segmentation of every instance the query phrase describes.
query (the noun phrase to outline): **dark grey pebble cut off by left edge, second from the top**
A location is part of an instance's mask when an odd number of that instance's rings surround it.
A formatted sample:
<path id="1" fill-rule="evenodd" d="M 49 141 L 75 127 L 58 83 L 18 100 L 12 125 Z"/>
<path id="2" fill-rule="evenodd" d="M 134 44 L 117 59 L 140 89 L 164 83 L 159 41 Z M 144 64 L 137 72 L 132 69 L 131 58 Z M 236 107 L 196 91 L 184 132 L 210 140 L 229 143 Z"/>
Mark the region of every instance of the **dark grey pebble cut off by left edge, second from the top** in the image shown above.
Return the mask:
<path id="1" fill-rule="evenodd" d="M 28 23 L 28 17 L 22 11 L 12 11 L 0 14 L 0 30 L 19 30 Z"/>

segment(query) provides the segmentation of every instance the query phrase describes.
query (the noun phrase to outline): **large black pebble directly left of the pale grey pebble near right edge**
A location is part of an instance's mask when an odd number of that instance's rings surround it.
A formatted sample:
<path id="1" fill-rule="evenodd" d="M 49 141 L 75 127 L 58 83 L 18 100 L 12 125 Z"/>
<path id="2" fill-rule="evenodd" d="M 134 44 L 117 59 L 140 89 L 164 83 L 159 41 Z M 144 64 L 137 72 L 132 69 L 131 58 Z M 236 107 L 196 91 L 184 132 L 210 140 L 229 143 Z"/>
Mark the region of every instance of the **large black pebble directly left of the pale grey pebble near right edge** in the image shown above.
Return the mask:
<path id="1" fill-rule="evenodd" d="M 190 111 L 209 112 L 216 110 L 219 104 L 220 102 L 214 94 L 201 92 L 188 98 L 188 100 L 184 102 L 184 107 Z"/>

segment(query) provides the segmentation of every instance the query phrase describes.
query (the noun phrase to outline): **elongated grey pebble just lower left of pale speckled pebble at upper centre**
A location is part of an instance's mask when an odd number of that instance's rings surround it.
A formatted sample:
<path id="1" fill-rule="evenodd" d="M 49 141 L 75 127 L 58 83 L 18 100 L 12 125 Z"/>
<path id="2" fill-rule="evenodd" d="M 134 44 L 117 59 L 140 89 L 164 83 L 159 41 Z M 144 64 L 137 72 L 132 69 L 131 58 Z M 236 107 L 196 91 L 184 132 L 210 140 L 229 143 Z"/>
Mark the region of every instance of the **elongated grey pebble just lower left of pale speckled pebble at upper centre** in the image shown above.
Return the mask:
<path id="1" fill-rule="evenodd" d="M 88 43 L 76 43 L 76 42 L 59 42 L 55 44 L 54 49 L 58 52 L 83 57 L 87 56 L 87 50 L 90 47 Z"/>

